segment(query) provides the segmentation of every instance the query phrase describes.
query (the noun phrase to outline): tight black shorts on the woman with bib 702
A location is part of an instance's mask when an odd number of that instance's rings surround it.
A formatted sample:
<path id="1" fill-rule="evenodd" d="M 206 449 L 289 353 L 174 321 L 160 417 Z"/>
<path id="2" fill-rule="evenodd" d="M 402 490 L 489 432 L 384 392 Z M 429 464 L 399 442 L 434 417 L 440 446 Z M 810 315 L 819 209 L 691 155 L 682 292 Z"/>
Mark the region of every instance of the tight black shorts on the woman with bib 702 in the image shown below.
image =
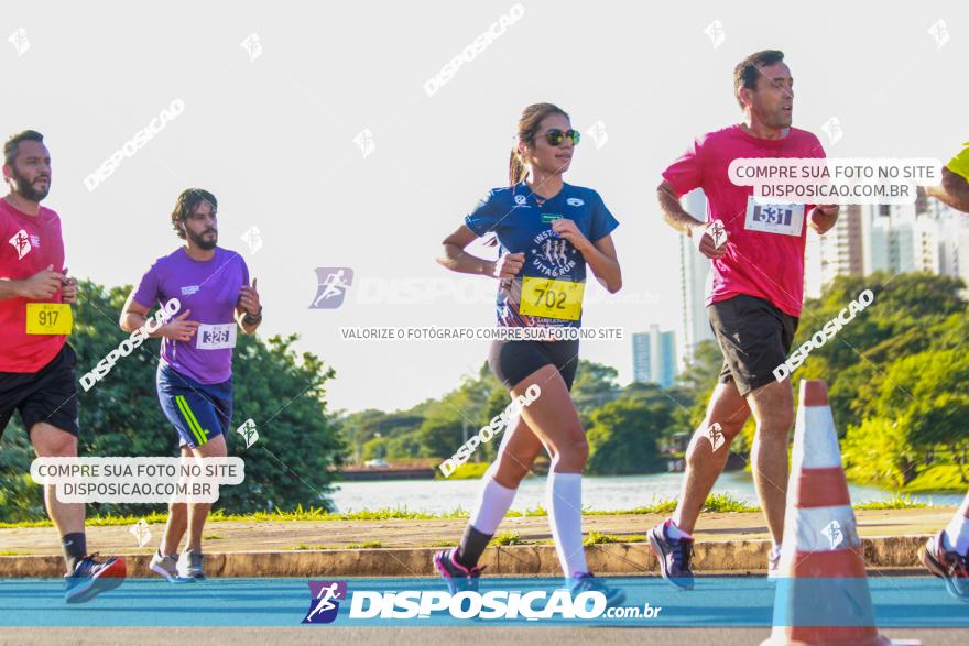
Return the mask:
<path id="1" fill-rule="evenodd" d="M 543 365 L 552 364 L 571 390 L 579 363 L 579 342 L 574 341 L 493 341 L 488 364 L 508 390 L 520 384 Z M 542 384 L 538 384 L 541 387 Z"/>

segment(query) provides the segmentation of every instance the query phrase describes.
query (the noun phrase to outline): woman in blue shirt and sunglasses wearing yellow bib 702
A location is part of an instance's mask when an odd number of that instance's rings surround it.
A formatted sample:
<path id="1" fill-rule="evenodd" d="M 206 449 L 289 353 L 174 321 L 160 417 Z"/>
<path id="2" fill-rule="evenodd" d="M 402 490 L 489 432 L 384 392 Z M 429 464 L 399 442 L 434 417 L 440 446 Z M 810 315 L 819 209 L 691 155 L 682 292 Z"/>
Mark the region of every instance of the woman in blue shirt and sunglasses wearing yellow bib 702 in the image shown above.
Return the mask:
<path id="1" fill-rule="evenodd" d="M 579 133 L 551 103 L 525 108 L 509 162 L 509 186 L 488 193 L 465 223 L 444 240 L 438 262 L 459 273 L 498 278 L 499 328 L 557 332 L 566 340 L 496 340 L 488 362 L 513 399 L 534 385 L 540 395 L 522 407 L 484 475 L 477 508 L 457 548 L 434 557 L 451 593 L 477 589 L 478 560 L 514 500 L 519 483 L 546 449 L 552 469 L 546 508 L 565 576 L 574 594 L 596 590 L 610 605 L 621 590 L 589 572 L 581 534 L 581 473 L 589 447 L 569 390 L 578 363 L 578 328 L 588 264 L 609 292 L 622 285 L 610 233 L 619 226 L 599 194 L 562 179 Z M 465 252 L 476 238 L 493 236 L 499 258 Z M 522 328 L 531 328 L 523 330 Z M 565 329 L 555 329 L 565 328 Z"/>

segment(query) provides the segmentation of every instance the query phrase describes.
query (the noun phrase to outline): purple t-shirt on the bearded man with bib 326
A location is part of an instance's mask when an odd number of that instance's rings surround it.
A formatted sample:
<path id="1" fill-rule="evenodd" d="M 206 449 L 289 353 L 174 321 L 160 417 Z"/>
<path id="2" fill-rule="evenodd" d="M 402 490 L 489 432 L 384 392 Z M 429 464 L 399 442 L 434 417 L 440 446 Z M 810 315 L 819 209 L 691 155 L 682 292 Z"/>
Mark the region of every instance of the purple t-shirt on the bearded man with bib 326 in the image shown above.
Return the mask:
<path id="1" fill-rule="evenodd" d="M 156 260 L 134 291 L 134 302 L 151 309 L 177 298 L 175 316 L 189 310 L 187 320 L 199 324 L 190 341 L 162 339 L 162 363 L 204 384 L 231 377 L 236 303 L 248 284 L 246 261 L 221 247 L 207 261 L 192 260 L 184 248 Z"/>

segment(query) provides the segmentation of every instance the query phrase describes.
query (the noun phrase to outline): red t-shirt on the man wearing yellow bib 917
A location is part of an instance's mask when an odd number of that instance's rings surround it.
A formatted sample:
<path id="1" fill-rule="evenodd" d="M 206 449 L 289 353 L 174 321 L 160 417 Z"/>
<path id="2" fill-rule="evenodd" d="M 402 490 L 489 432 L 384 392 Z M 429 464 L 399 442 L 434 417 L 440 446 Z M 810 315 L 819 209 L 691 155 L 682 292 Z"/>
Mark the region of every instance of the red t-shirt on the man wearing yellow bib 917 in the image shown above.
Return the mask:
<path id="1" fill-rule="evenodd" d="M 64 271 L 61 218 L 41 207 L 29 216 L 0 198 L 0 277 L 29 278 L 54 265 Z M 64 335 L 28 335 L 26 298 L 0 299 L 0 372 L 37 372 L 48 364 L 64 343 Z M 61 303 L 61 289 L 43 303 Z"/>

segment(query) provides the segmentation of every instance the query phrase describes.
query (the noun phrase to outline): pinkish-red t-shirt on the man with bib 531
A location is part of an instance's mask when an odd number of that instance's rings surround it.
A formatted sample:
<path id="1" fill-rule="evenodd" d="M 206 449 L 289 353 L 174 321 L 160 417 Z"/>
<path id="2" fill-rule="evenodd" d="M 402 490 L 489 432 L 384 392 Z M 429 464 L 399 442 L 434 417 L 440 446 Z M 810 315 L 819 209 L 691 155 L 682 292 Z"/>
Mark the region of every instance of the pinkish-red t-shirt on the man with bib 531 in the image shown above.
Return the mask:
<path id="1" fill-rule="evenodd" d="M 791 128 L 784 139 L 759 139 L 740 125 L 707 133 L 663 172 L 679 194 L 703 188 L 707 195 L 707 221 L 720 220 L 727 229 L 727 251 L 714 260 L 707 305 L 739 294 L 765 298 L 782 311 L 797 317 L 804 304 L 805 205 L 801 230 L 781 234 L 748 228 L 751 186 L 737 186 L 727 175 L 730 162 L 742 157 L 824 157 L 818 139 Z M 756 218 L 758 216 L 753 216 Z"/>

